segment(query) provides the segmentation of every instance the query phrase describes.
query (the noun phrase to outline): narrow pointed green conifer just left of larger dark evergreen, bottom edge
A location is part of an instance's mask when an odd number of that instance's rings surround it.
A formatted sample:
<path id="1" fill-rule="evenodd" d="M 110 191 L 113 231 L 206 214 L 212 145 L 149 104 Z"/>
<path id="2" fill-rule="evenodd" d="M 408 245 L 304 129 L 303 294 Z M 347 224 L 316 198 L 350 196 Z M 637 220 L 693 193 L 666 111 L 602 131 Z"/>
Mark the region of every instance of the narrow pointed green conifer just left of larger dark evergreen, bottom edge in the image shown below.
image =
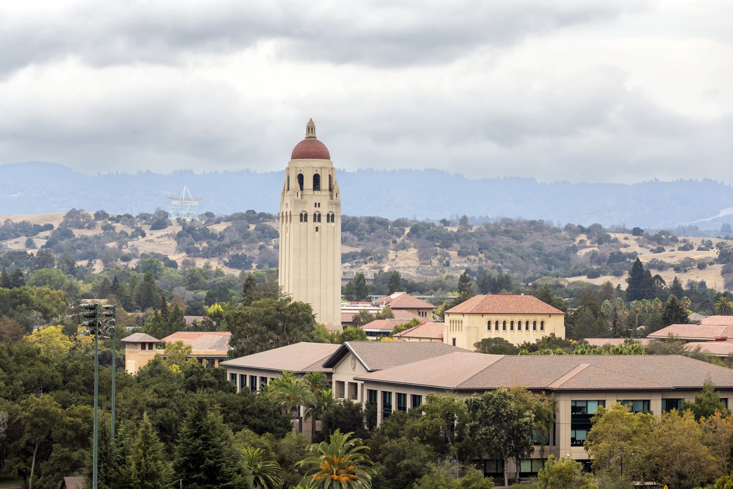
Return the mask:
<path id="1" fill-rule="evenodd" d="M 172 466 L 163 444 L 143 414 L 130 452 L 130 488 L 163 489 L 172 482 Z"/>

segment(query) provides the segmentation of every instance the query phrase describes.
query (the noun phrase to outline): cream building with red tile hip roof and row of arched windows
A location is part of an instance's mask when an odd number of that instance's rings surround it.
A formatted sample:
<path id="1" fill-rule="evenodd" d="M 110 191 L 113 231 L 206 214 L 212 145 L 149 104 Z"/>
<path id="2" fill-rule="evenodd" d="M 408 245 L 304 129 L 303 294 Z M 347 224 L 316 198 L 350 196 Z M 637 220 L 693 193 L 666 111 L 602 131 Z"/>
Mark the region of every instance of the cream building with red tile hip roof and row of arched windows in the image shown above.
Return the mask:
<path id="1" fill-rule="evenodd" d="M 521 345 L 550 334 L 565 337 L 565 313 L 532 295 L 474 295 L 444 316 L 443 342 L 467 350 L 484 338 Z"/>

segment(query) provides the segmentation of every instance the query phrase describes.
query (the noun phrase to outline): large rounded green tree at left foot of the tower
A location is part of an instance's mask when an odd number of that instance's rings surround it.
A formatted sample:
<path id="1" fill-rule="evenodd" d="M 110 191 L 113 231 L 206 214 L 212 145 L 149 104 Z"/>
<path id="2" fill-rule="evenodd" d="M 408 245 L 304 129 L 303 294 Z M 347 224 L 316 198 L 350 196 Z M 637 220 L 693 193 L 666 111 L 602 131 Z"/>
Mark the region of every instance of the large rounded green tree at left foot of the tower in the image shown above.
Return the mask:
<path id="1" fill-rule="evenodd" d="M 232 331 L 229 358 L 235 359 L 308 341 L 316 323 L 309 304 L 286 297 L 228 309 L 222 324 L 226 331 Z"/>

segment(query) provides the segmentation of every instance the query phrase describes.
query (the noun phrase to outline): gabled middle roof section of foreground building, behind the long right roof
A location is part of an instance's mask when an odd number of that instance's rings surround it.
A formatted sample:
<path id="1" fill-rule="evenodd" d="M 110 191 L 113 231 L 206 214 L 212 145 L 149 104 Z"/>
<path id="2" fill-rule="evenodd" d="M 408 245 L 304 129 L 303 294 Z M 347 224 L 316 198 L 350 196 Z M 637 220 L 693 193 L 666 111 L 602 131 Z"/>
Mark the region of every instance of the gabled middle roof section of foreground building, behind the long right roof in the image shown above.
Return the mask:
<path id="1" fill-rule="evenodd" d="M 364 368 L 372 372 L 434 359 L 456 351 L 474 354 L 463 348 L 438 342 L 345 342 L 323 363 L 323 367 L 335 367 L 348 353 L 353 353 Z"/>

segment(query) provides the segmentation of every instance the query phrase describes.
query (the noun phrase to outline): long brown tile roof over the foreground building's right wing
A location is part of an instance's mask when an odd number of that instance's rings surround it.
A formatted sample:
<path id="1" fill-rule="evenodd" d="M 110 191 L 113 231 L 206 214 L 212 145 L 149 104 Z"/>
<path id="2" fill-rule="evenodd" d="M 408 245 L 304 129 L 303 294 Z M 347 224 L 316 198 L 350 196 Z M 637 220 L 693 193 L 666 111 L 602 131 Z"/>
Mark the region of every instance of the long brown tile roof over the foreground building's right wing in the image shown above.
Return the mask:
<path id="1" fill-rule="evenodd" d="M 708 379 L 719 388 L 733 388 L 733 369 L 685 356 L 476 355 L 449 353 L 357 378 L 463 391 L 513 385 L 549 391 L 701 389 Z"/>

